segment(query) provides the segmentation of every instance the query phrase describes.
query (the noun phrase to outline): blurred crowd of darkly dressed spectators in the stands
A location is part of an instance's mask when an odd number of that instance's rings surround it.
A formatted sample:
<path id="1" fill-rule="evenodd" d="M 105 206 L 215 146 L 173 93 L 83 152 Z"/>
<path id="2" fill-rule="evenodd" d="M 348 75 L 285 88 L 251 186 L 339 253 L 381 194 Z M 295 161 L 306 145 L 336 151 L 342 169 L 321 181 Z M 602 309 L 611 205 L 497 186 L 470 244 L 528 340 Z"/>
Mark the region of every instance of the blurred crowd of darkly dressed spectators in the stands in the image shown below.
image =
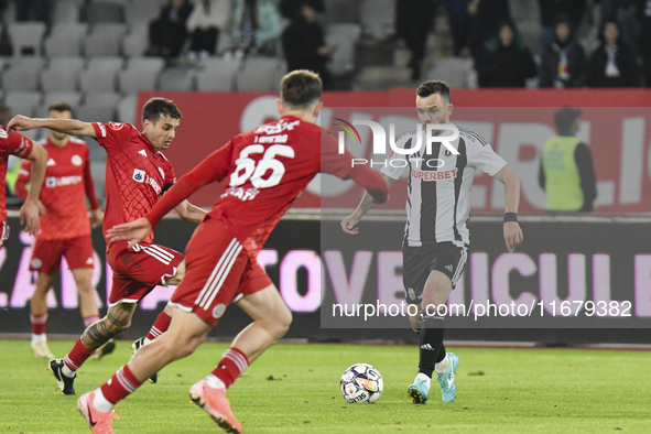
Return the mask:
<path id="1" fill-rule="evenodd" d="M 11 1 L 17 2 L 18 21 L 50 19 L 53 0 L 0 0 L 0 11 Z M 346 8 L 352 10 L 356 1 Z M 512 0 L 395 0 L 392 34 L 411 52 L 414 80 L 423 72 L 436 14 L 444 12 L 453 44 L 449 54 L 473 58 L 479 87 L 525 87 L 532 79 L 533 86 L 536 82 L 539 87 L 554 88 L 651 86 L 651 0 L 535 1 L 542 51 L 528 46 L 519 30 L 523 24 L 511 14 L 517 4 Z M 326 44 L 319 14 L 326 7 L 341 4 L 167 0 L 149 24 L 145 55 L 191 61 L 227 52 L 240 57 L 281 56 L 289 69 L 315 70 L 326 88 L 334 88 L 327 63 L 337 47 Z M 586 23 L 599 29 L 598 46 L 589 50 L 577 35 Z"/>

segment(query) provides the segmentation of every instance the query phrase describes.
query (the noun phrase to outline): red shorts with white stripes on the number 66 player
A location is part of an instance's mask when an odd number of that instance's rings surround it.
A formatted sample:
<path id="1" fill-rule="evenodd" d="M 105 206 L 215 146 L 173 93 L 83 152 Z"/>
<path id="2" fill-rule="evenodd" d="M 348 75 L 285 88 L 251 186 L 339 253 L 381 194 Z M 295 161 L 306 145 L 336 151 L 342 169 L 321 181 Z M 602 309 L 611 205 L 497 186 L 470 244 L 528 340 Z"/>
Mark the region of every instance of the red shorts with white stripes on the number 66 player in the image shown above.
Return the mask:
<path id="1" fill-rule="evenodd" d="M 185 249 L 185 276 L 170 304 L 216 325 L 238 295 L 271 285 L 271 279 L 218 219 L 204 219 Z"/>

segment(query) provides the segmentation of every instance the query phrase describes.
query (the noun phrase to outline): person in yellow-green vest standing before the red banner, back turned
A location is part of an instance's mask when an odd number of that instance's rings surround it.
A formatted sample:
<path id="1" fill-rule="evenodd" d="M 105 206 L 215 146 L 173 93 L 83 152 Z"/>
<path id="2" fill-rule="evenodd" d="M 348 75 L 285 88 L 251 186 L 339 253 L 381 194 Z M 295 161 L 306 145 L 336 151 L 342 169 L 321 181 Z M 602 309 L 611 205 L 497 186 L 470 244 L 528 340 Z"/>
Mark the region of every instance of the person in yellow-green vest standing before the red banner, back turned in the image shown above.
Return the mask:
<path id="1" fill-rule="evenodd" d="M 593 156 L 585 143 L 576 138 L 581 110 L 563 107 L 554 116 L 558 135 L 543 147 L 539 184 L 547 194 L 549 211 L 582 211 L 595 209 L 597 183 Z"/>

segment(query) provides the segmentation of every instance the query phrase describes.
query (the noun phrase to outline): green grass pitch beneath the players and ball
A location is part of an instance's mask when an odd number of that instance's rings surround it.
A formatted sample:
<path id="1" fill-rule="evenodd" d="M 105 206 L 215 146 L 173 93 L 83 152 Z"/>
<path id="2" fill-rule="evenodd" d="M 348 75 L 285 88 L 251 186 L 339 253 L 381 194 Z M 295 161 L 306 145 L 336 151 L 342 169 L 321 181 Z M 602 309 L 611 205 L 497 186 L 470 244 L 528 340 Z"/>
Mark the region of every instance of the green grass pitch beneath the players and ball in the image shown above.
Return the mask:
<path id="1" fill-rule="evenodd" d="M 97 388 L 127 362 L 131 350 L 82 368 L 77 397 Z M 51 341 L 64 355 L 73 341 Z M 116 433 L 220 432 L 187 397 L 226 344 L 207 343 L 161 371 L 116 406 Z M 409 346 L 281 344 L 269 349 L 228 392 L 245 433 L 649 433 L 649 354 L 575 349 L 449 348 L 460 358 L 457 398 L 430 401 L 406 395 L 417 364 Z M 339 378 L 355 362 L 373 365 L 384 379 L 376 404 L 348 404 Z M 86 433 L 75 410 L 29 341 L 0 340 L 0 432 Z"/>

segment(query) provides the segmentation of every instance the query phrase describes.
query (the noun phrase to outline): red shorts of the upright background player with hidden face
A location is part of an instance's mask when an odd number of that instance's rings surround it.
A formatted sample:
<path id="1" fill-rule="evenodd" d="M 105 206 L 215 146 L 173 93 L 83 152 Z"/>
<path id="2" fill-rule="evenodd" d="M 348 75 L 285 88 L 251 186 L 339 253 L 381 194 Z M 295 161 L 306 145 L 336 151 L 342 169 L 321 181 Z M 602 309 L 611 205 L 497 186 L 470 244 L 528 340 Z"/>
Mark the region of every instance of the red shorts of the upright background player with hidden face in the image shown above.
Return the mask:
<path id="1" fill-rule="evenodd" d="M 93 240 L 90 237 L 69 240 L 36 240 L 30 261 L 30 271 L 55 274 L 61 269 L 61 258 L 65 257 L 70 270 L 93 269 Z"/>

